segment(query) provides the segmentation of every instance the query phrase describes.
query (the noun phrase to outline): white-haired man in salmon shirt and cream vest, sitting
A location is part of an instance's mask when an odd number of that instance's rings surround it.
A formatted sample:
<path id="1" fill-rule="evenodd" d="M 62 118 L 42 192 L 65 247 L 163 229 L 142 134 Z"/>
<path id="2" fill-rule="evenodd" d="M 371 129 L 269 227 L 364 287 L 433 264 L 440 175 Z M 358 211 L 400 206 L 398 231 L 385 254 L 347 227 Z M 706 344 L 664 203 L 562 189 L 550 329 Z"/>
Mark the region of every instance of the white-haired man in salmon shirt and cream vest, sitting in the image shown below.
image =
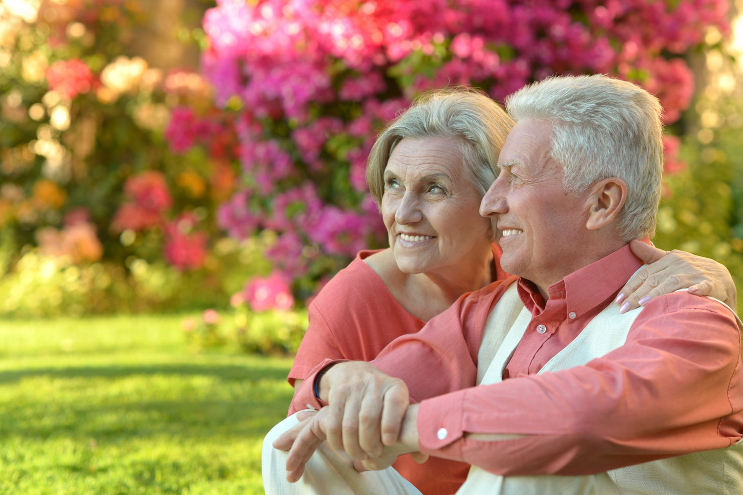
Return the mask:
<path id="1" fill-rule="evenodd" d="M 371 363 L 319 364 L 293 407 L 327 407 L 273 442 L 291 447 L 273 462 L 291 482 L 308 463 L 295 487 L 316 493 L 415 493 L 393 470 L 351 468 L 408 452 L 473 465 L 463 494 L 743 493 L 736 316 L 687 292 L 611 304 L 641 266 L 627 243 L 655 229 L 658 100 L 565 76 L 507 111 L 516 125 L 481 214 L 519 278 L 463 296 Z"/>

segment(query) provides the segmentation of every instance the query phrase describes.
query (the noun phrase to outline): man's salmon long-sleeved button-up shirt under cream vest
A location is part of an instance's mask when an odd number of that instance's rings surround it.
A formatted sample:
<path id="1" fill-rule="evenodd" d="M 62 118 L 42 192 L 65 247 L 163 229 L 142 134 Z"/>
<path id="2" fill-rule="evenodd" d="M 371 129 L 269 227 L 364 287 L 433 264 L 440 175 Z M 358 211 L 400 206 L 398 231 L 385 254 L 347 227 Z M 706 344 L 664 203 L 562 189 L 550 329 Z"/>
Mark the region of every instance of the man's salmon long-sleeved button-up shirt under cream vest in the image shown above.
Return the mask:
<path id="1" fill-rule="evenodd" d="M 640 266 L 625 246 L 550 286 L 548 301 L 530 282 L 514 282 L 532 319 L 499 383 L 474 386 L 485 319 L 507 282 L 462 296 L 420 332 L 386 347 L 371 363 L 402 378 L 421 403 L 421 452 L 504 476 L 583 475 L 738 442 L 741 335 L 733 313 L 708 298 L 654 298 L 623 346 L 584 366 L 535 374 Z M 324 405 L 313 380 L 297 391 L 296 404 Z"/>

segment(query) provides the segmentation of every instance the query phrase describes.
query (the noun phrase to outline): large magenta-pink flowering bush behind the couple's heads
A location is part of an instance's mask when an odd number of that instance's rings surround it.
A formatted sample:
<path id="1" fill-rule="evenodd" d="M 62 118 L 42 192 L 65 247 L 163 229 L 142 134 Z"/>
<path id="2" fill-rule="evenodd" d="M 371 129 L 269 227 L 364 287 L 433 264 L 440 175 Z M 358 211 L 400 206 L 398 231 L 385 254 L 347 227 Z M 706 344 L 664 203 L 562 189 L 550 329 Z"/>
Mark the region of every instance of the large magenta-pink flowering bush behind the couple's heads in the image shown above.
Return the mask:
<path id="1" fill-rule="evenodd" d="M 204 16 L 202 73 L 239 140 L 230 235 L 278 234 L 267 255 L 302 288 L 383 246 L 364 182 L 374 134 L 421 91 L 475 85 L 494 99 L 561 73 L 609 73 L 657 94 L 672 125 L 694 92 L 684 55 L 725 0 L 221 0 Z M 174 149 L 198 140 L 184 111 Z M 224 125 L 225 119 L 221 119 Z M 207 135 L 208 132 L 204 132 Z M 669 137 L 668 172 L 678 141 Z"/>

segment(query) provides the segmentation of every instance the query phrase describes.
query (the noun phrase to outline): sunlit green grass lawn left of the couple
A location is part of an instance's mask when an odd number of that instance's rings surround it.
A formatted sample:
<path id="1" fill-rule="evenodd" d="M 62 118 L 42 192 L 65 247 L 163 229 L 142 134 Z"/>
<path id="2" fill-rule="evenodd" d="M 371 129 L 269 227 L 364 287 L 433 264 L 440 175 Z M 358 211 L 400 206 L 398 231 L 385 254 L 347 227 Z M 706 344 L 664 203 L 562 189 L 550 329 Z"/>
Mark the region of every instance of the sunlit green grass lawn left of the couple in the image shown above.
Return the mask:
<path id="1" fill-rule="evenodd" d="M 182 318 L 0 321 L 0 494 L 262 494 L 291 359 L 189 353 Z"/>

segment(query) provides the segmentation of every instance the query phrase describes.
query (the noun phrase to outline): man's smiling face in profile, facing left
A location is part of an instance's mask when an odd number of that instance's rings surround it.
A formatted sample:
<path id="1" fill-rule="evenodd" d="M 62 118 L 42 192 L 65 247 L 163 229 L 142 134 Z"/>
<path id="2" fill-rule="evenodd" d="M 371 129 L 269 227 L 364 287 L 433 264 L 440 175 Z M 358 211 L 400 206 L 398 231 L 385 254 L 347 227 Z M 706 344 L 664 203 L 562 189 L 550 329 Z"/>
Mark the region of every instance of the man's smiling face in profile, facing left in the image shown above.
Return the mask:
<path id="1" fill-rule="evenodd" d="M 501 265 L 540 289 L 583 266 L 587 194 L 562 186 L 562 165 L 550 156 L 553 125 L 522 120 L 499 155 L 501 172 L 482 199 L 480 214 L 497 217 Z"/>

